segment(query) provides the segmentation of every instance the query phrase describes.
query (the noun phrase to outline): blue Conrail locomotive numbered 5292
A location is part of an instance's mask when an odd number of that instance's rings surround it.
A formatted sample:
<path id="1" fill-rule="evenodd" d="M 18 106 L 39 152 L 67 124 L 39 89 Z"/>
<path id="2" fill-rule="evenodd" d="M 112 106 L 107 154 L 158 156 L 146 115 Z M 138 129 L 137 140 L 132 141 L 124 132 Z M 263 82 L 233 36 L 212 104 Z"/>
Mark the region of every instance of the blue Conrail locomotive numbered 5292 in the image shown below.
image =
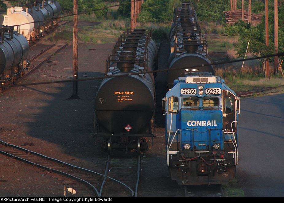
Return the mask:
<path id="1" fill-rule="evenodd" d="M 167 165 L 181 185 L 223 184 L 238 164 L 239 98 L 220 77 L 179 77 L 163 99 Z"/>

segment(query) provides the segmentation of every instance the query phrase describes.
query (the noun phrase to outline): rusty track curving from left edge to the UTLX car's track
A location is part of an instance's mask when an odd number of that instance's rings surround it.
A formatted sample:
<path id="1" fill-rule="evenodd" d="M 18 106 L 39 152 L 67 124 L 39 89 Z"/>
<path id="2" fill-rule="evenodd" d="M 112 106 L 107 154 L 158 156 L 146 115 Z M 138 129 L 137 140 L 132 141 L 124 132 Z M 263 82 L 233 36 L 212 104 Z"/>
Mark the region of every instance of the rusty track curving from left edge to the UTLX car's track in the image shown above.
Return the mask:
<path id="1" fill-rule="evenodd" d="M 43 169 L 82 197 L 98 196 L 102 174 L 53 159 L 0 140 L 0 153 Z"/>

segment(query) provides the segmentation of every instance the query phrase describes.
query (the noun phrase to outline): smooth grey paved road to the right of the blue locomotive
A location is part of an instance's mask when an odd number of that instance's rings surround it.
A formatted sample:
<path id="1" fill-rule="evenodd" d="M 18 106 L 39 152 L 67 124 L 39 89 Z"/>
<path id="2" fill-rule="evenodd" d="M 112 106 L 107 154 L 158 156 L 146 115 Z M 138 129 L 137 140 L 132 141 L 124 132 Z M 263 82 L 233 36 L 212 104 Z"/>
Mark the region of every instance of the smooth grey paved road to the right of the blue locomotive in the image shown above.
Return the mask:
<path id="1" fill-rule="evenodd" d="M 246 196 L 284 196 L 284 94 L 241 99 L 237 170 Z"/>

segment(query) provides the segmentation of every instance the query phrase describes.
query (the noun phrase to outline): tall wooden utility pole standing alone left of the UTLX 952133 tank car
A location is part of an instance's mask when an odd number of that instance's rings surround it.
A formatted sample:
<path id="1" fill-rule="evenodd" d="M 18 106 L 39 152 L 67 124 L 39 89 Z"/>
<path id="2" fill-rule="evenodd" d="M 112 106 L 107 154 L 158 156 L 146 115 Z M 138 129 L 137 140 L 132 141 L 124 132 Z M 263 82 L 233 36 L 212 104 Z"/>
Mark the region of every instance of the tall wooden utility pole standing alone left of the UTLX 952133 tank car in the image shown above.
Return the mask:
<path id="1" fill-rule="evenodd" d="M 73 0 L 73 80 L 78 79 L 78 0 Z M 73 93 L 69 99 L 78 97 L 78 81 L 73 81 Z"/>

